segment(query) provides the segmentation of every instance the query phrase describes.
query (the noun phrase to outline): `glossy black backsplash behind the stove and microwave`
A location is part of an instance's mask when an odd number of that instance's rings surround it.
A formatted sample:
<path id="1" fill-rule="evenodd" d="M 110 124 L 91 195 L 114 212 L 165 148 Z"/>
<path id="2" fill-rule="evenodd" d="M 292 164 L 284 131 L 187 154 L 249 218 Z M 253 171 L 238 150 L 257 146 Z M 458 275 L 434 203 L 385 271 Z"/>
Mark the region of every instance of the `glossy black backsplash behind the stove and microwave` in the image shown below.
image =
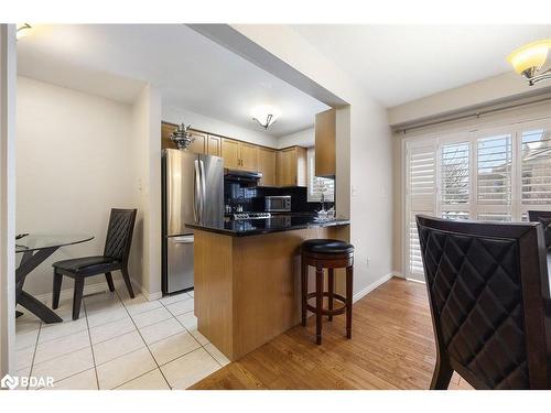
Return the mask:
<path id="1" fill-rule="evenodd" d="M 244 211 L 262 213 L 264 210 L 264 196 L 291 196 L 292 213 L 315 213 L 322 208 L 321 203 L 307 202 L 307 188 L 295 186 L 285 188 L 246 186 L 235 182 L 224 182 L 224 203 L 236 207 L 242 205 Z M 335 203 L 325 203 L 325 208 L 333 207 Z"/>

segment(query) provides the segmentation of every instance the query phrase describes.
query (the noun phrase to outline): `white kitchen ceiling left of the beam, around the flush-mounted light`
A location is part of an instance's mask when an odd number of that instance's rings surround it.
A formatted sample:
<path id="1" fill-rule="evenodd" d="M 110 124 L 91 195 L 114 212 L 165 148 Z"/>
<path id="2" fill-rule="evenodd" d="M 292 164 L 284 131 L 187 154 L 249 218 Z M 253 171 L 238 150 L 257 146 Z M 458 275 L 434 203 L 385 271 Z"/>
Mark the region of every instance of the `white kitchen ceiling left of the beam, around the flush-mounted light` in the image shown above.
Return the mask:
<path id="1" fill-rule="evenodd" d="M 271 105 L 281 112 L 272 137 L 307 129 L 327 109 L 183 24 L 36 25 L 18 41 L 18 73 L 126 102 L 149 81 L 163 105 L 259 132 L 250 110 Z"/>

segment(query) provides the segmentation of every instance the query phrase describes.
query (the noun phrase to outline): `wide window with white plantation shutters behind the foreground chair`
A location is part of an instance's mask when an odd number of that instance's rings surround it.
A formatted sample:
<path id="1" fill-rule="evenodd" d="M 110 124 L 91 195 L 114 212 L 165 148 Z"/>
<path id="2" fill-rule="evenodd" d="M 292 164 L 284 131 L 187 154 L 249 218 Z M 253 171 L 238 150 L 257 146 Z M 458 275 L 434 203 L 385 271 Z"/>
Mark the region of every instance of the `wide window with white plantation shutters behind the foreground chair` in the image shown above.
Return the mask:
<path id="1" fill-rule="evenodd" d="M 550 122 L 539 123 L 407 141 L 408 278 L 423 278 L 418 214 L 507 222 L 551 210 Z"/>

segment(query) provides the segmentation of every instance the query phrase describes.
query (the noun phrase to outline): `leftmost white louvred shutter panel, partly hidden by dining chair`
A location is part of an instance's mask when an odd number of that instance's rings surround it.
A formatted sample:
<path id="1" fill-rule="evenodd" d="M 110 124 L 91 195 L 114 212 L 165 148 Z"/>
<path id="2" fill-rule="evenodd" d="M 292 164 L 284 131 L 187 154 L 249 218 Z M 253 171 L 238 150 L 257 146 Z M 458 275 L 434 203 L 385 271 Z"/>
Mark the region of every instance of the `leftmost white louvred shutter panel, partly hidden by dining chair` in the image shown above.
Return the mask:
<path id="1" fill-rule="evenodd" d="M 435 214 L 436 146 L 434 141 L 408 142 L 406 196 L 408 208 L 406 260 L 407 276 L 424 281 L 415 215 Z"/>

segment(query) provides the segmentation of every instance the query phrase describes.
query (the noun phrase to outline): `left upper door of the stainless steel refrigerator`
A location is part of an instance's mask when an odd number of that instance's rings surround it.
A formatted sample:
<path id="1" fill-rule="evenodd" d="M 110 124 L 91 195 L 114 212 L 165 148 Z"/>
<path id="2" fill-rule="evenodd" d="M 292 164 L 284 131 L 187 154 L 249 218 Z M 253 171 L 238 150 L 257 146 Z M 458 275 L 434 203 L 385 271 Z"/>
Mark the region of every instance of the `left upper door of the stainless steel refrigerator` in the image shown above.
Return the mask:
<path id="1" fill-rule="evenodd" d="M 168 149 L 164 152 L 164 207 L 166 236 L 190 233 L 185 222 L 194 222 L 196 215 L 197 155 Z"/>

